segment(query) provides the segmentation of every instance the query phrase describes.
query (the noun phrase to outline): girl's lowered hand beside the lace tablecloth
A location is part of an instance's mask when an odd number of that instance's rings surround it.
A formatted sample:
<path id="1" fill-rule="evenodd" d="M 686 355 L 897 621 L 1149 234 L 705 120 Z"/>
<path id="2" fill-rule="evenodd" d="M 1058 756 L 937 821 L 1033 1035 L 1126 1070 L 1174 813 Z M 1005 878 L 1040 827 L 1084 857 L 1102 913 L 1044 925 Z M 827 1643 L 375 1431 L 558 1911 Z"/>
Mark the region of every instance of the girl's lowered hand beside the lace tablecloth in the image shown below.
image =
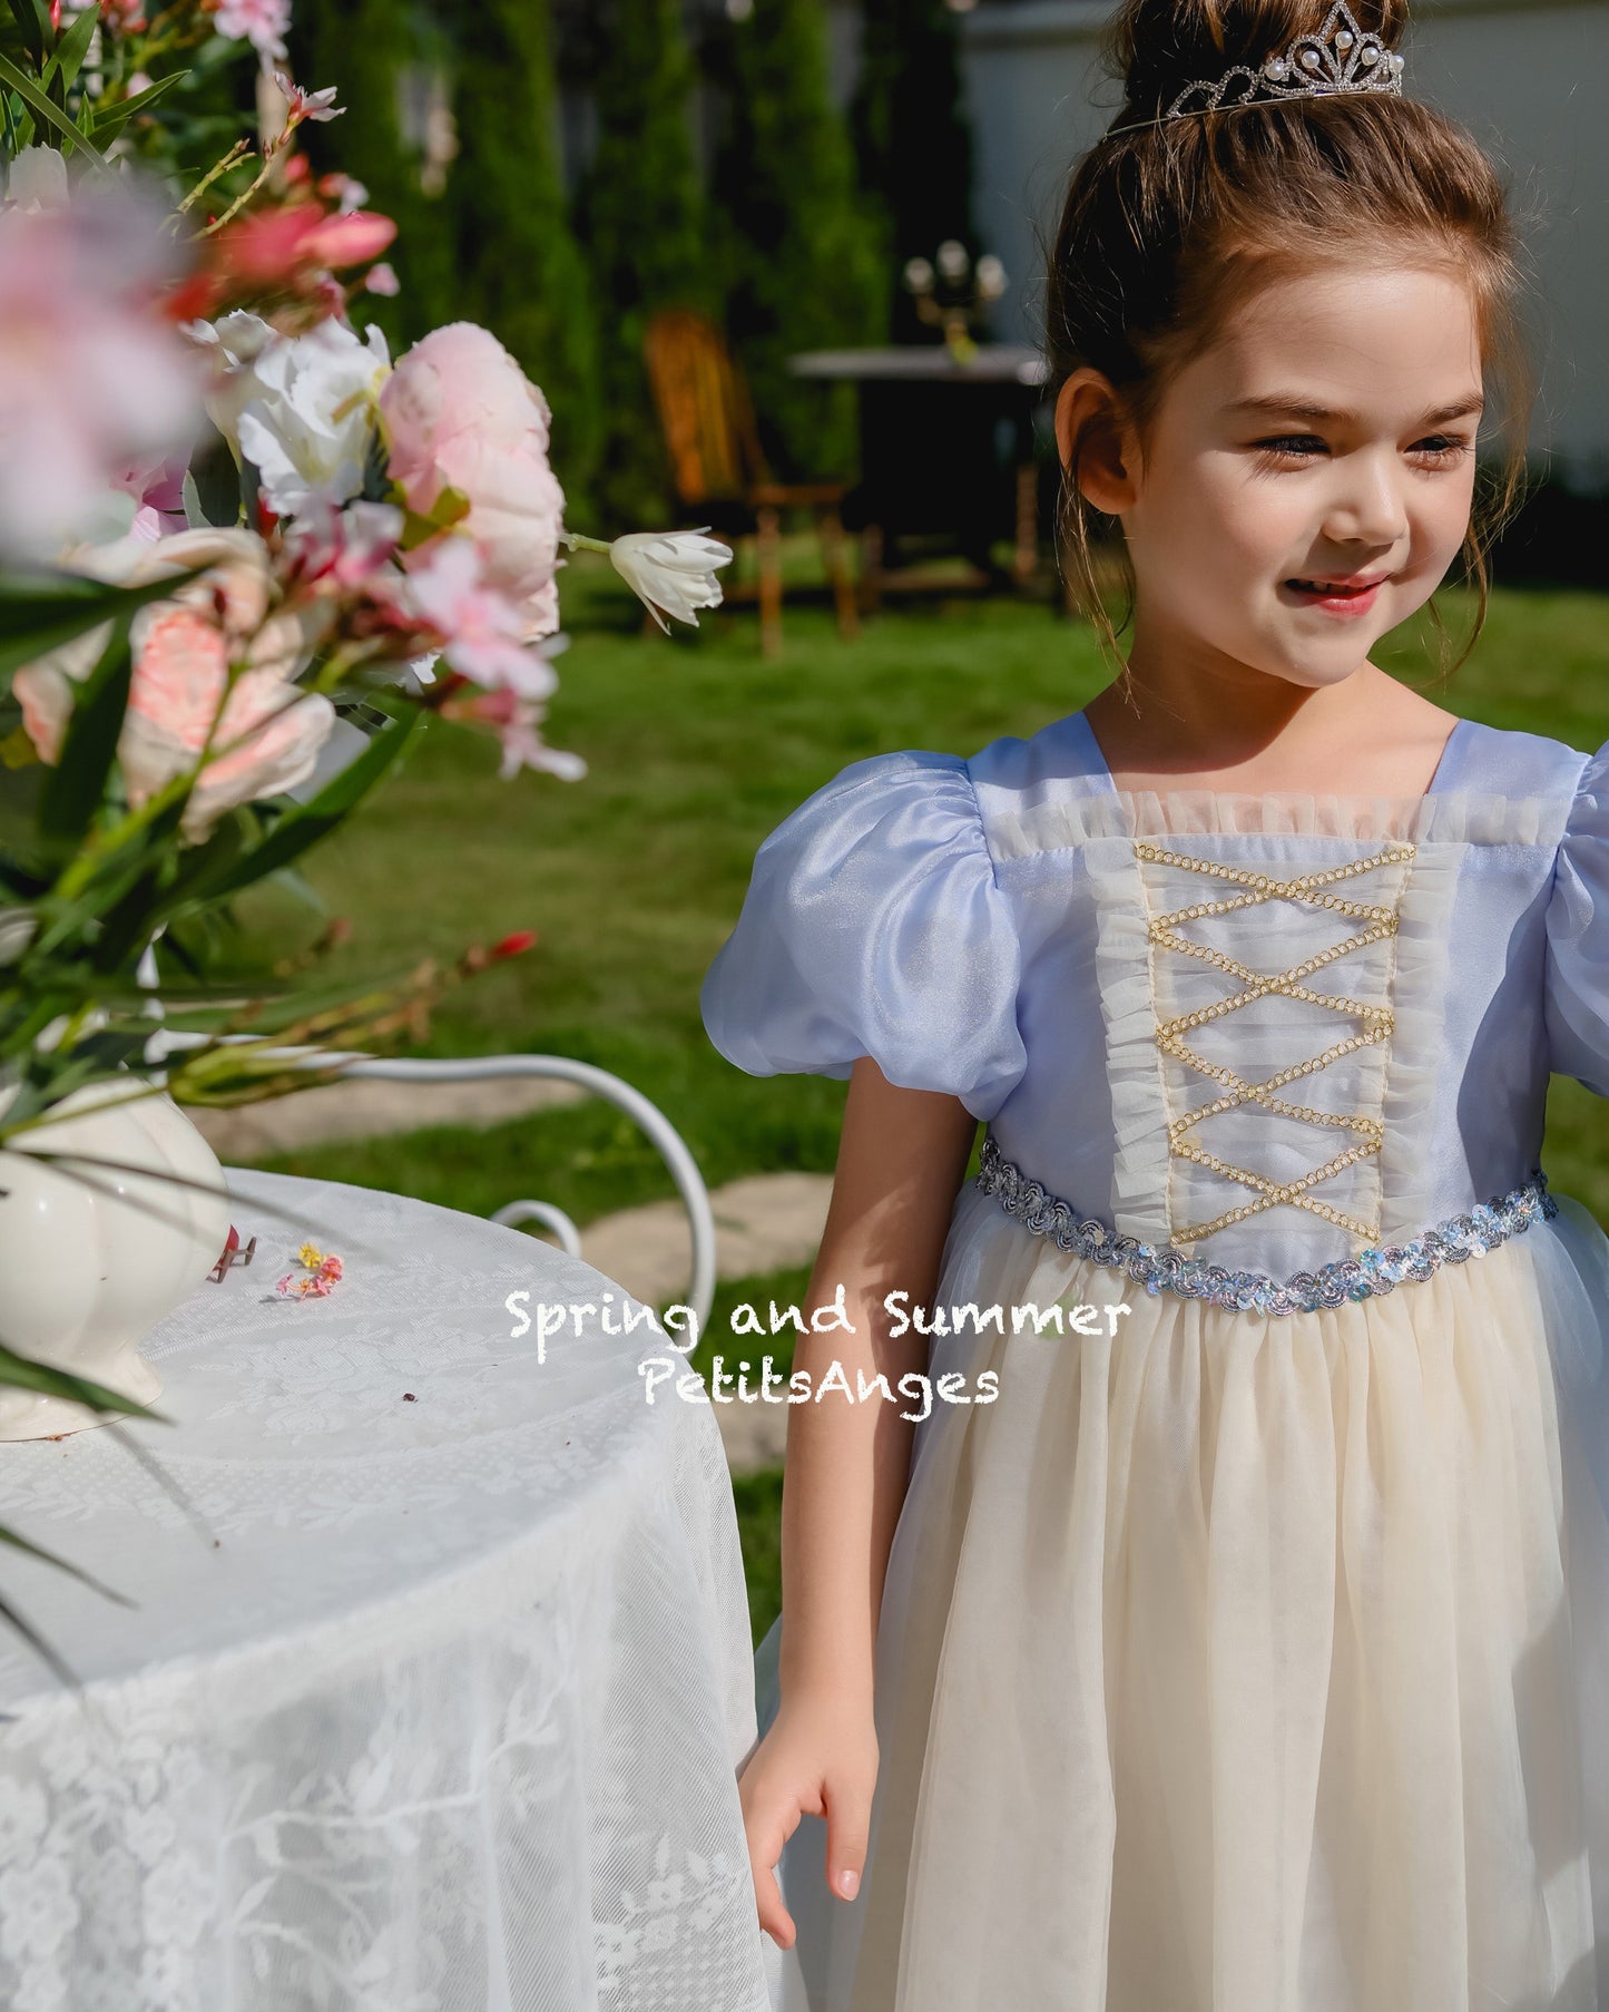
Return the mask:
<path id="1" fill-rule="evenodd" d="M 827 1817 L 827 1885 L 839 1899 L 853 1899 L 867 1863 L 875 1787 L 877 1730 L 869 1706 L 817 1696 L 778 1706 L 738 1777 L 760 1927 L 778 1948 L 790 1950 L 796 1936 L 776 1885 L 782 1845 L 802 1815 Z"/>

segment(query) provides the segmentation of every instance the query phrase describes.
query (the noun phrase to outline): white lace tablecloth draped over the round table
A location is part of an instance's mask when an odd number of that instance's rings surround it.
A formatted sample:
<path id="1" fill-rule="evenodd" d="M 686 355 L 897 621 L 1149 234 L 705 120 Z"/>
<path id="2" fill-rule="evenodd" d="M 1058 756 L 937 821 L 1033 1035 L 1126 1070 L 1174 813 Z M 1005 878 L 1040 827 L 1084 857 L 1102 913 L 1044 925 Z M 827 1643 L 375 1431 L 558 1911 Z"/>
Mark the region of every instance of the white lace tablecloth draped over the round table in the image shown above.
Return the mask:
<path id="1" fill-rule="evenodd" d="M 84 1680 L 0 1632 L 0 2006 L 764 2012 L 714 1414 L 646 1326 L 513 1340 L 515 1290 L 634 1304 L 533 1237 L 229 1183 L 257 1258 L 131 1429 L 189 1511 L 107 1431 L 0 1447 L 0 1523 L 139 1602 L 0 1551 Z M 304 1235 L 346 1278 L 276 1300 Z"/>

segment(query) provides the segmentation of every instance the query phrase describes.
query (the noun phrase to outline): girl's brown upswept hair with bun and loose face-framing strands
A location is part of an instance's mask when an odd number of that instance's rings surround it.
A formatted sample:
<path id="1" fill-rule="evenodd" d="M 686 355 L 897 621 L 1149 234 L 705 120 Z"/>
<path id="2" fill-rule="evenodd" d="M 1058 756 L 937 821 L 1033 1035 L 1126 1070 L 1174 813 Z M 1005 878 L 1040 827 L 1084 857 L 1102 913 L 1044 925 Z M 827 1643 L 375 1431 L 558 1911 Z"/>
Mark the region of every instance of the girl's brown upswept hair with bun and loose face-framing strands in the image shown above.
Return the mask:
<path id="1" fill-rule="evenodd" d="M 1364 34 L 1392 48 L 1408 0 L 1352 0 L 1352 10 Z M 1124 105 L 1072 171 L 1048 260 L 1046 392 L 1054 402 L 1074 370 L 1094 366 L 1144 433 L 1171 374 L 1207 344 L 1233 300 L 1275 272 L 1331 258 L 1378 262 L 1382 245 L 1454 264 L 1474 290 L 1506 443 L 1476 481 L 1464 571 L 1478 606 L 1456 660 L 1430 604 L 1446 676 L 1486 622 L 1490 543 L 1525 491 L 1533 376 L 1496 169 L 1462 127 L 1388 93 L 1259 101 L 1118 131 L 1156 121 L 1193 78 L 1223 76 L 1233 64 L 1261 68 L 1321 30 L 1327 14 L 1329 0 L 1122 0 L 1106 58 L 1124 80 Z M 1078 487 L 1082 445 L 1082 437 L 1072 443 L 1062 471 L 1058 543 L 1070 583 L 1116 654 L 1134 612 L 1134 573 L 1124 549 L 1128 606 L 1114 626 L 1092 551 L 1098 513 Z"/>

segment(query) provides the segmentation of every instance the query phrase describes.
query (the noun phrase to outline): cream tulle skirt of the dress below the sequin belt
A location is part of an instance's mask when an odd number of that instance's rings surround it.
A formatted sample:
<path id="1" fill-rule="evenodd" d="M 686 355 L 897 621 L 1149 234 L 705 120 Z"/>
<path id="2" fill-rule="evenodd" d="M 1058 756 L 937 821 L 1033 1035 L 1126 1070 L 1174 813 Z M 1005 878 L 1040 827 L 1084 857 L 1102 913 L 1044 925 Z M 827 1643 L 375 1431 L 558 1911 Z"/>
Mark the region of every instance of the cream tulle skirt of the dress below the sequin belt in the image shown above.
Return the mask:
<path id="1" fill-rule="evenodd" d="M 776 2008 L 1609 2008 L 1609 1239 L 1559 1201 L 1267 1318 L 961 1195 L 939 1304 L 1132 1312 L 933 1342 L 1000 1396 L 917 1427 L 865 1879 L 800 1819 Z"/>

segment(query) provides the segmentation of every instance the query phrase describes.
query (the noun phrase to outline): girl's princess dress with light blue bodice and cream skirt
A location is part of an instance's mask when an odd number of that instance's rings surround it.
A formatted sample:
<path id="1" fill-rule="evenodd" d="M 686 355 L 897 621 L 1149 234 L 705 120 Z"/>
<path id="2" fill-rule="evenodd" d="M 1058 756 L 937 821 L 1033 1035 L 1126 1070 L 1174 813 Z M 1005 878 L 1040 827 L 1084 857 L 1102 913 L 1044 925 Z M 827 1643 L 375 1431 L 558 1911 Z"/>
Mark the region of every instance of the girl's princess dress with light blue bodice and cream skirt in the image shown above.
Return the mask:
<path id="1" fill-rule="evenodd" d="M 998 1398 L 915 1427 L 865 1875 L 800 1819 L 778 2006 L 1609 2006 L 1609 1239 L 1539 1169 L 1549 1072 L 1609 1095 L 1609 746 L 1464 720 L 1418 799 L 1118 791 L 1082 712 L 859 761 L 702 1006 L 988 1121 L 929 1376 Z"/>

